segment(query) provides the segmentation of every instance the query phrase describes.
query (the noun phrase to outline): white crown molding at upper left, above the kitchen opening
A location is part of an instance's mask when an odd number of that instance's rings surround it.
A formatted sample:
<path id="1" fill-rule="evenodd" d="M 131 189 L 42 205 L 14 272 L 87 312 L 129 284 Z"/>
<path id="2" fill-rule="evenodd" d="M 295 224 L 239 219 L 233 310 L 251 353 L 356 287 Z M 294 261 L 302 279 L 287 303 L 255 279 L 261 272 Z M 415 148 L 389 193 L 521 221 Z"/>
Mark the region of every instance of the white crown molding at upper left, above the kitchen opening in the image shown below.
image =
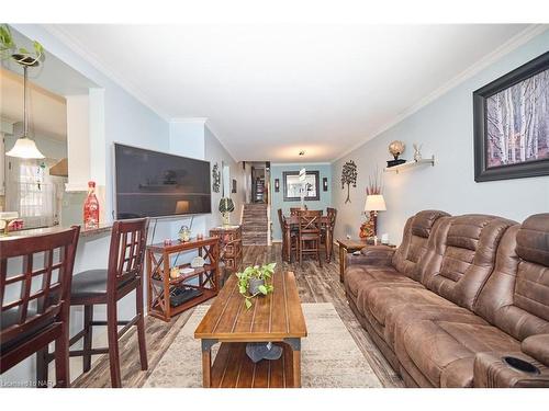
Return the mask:
<path id="1" fill-rule="evenodd" d="M 127 79 L 123 79 L 119 75 L 115 73 L 109 66 L 104 65 L 100 61 L 100 59 L 89 52 L 83 44 L 80 43 L 75 36 L 69 34 L 66 30 L 59 27 L 55 24 L 41 24 L 41 27 L 44 28 L 47 33 L 57 38 L 61 44 L 68 47 L 71 52 L 76 53 L 83 60 L 89 62 L 93 68 L 96 68 L 100 73 L 109 78 L 115 84 L 120 85 L 124 89 L 128 94 L 135 98 L 143 105 L 152 110 L 159 117 L 169 122 L 169 116 L 156 107 L 149 99 L 133 83 L 131 83 Z"/>

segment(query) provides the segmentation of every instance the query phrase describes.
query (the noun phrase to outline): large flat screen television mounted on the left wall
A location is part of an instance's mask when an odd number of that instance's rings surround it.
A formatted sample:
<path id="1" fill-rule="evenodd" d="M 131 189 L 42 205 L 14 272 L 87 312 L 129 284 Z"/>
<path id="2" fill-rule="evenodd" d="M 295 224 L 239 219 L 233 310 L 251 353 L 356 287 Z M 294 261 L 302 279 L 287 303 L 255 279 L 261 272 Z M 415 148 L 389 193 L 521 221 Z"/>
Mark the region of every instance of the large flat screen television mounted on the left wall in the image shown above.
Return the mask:
<path id="1" fill-rule="evenodd" d="M 210 162 L 114 144 L 117 219 L 212 212 Z"/>

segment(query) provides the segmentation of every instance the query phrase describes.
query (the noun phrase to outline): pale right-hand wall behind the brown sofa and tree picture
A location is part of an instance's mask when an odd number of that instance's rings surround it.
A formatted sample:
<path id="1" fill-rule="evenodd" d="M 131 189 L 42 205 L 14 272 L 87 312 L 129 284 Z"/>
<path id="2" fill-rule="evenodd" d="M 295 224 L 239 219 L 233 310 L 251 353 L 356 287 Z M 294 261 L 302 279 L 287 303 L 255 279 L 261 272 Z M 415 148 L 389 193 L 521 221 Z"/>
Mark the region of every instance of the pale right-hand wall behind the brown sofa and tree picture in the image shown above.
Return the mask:
<path id="1" fill-rule="evenodd" d="M 450 90 L 435 102 L 403 119 L 360 148 L 333 163 L 333 204 L 338 209 L 336 238 L 358 237 L 363 216 L 368 175 L 383 169 L 391 159 L 389 142 L 406 142 L 404 158 L 411 160 L 412 144 L 423 144 L 424 158 L 435 155 L 436 165 L 384 173 L 383 194 L 388 210 L 379 216 L 380 232 L 400 243 L 407 217 L 422 209 L 436 208 L 453 215 L 483 213 L 517 221 L 536 213 L 549 212 L 549 176 L 475 183 L 473 178 L 472 92 L 508 71 L 546 53 L 549 32 L 512 52 L 489 68 Z M 397 98 L 397 96 L 395 96 Z M 346 189 L 339 176 L 343 164 L 355 160 L 358 183 L 351 203 L 344 204 Z"/>

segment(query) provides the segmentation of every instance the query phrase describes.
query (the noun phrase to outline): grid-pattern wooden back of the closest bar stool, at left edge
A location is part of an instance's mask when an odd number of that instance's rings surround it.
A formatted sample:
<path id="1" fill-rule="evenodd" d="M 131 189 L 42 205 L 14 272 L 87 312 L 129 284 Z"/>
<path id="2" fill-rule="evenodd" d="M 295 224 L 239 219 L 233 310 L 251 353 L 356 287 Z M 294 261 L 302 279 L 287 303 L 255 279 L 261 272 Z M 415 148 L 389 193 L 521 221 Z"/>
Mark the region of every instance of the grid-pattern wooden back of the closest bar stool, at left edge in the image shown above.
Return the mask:
<path id="1" fill-rule="evenodd" d="M 18 339 L 18 346 L 23 346 L 27 342 L 20 341 L 24 333 L 30 334 L 30 341 L 36 338 L 33 330 L 46 332 L 47 324 L 68 321 L 79 233 L 80 227 L 72 227 L 44 236 L 0 240 L 1 317 L 16 316 L 15 322 L 1 327 L 2 345 Z M 22 267 L 15 271 L 12 267 L 19 260 L 22 260 Z M 8 274 L 9 269 L 15 272 Z M 42 346 L 36 351 L 40 349 Z"/>

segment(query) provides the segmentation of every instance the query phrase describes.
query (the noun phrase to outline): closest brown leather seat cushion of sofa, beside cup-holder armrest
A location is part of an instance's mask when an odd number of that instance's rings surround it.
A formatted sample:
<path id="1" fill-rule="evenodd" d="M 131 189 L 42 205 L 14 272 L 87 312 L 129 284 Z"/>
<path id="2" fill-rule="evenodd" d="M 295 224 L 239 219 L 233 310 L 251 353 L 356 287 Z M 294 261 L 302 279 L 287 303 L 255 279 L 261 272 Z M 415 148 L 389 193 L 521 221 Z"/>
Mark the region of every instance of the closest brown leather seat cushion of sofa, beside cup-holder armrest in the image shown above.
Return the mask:
<path id="1" fill-rule="evenodd" d="M 414 321 L 396 338 L 404 368 L 416 367 L 435 387 L 471 387 L 477 353 L 518 351 L 519 343 L 492 326 L 449 321 Z"/>

